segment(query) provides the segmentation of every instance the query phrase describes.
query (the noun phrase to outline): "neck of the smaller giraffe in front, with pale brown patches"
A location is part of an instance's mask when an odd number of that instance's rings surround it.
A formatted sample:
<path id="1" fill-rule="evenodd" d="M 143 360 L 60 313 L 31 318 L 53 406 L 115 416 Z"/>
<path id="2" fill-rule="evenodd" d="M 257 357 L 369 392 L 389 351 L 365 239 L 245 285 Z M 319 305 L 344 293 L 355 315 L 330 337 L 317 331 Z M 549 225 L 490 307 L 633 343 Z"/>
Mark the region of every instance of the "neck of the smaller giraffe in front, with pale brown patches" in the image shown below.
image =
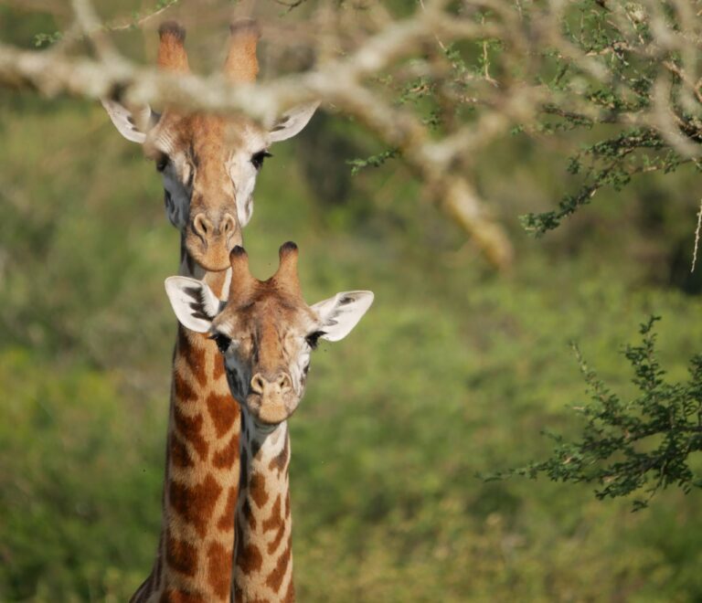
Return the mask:
<path id="1" fill-rule="evenodd" d="M 287 422 L 260 428 L 242 408 L 240 442 L 233 598 L 294 601 Z"/>

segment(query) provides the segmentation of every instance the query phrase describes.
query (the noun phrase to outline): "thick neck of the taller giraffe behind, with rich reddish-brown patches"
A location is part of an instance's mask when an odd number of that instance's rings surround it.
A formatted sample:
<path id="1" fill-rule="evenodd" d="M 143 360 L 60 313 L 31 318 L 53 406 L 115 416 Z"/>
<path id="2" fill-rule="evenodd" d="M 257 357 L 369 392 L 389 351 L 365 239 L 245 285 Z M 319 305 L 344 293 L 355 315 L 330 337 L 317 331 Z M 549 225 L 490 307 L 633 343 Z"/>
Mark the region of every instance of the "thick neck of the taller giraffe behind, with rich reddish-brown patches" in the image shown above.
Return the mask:
<path id="1" fill-rule="evenodd" d="M 231 270 L 190 270 L 221 294 Z M 197 273 L 199 272 L 199 273 Z M 229 601 L 239 491 L 239 405 L 217 345 L 178 325 L 166 437 L 163 518 L 151 575 L 132 601 Z"/>

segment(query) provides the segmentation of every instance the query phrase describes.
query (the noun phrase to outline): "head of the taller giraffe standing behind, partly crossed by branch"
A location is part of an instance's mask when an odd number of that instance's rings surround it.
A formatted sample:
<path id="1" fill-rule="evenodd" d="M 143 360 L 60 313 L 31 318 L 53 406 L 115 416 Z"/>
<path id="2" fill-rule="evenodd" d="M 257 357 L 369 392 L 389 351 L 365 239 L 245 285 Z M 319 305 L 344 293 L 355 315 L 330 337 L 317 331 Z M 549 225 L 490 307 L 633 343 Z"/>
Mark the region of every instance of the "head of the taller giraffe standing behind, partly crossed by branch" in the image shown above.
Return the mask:
<path id="1" fill-rule="evenodd" d="M 260 30 L 251 19 L 230 27 L 225 75 L 233 82 L 252 82 L 259 64 Z M 186 73 L 185 29 L 174 22 L 159 28 L 158 65 Z M 271 143 L 294 136 L 309 122 L 316 103 L 288 111 L 271 130 L 238 115 L 184 113 L 166 108 L 161 114 L 132 112 L 114 100 L 103 106 L 122 135 L 144 145 L 163 176 L 165 210 L 183 234 L 186 251 L 205 270 L 229 268 L 229 251 L 241 244 L 241 228 L 253 212 L 256 176 Z"/>

